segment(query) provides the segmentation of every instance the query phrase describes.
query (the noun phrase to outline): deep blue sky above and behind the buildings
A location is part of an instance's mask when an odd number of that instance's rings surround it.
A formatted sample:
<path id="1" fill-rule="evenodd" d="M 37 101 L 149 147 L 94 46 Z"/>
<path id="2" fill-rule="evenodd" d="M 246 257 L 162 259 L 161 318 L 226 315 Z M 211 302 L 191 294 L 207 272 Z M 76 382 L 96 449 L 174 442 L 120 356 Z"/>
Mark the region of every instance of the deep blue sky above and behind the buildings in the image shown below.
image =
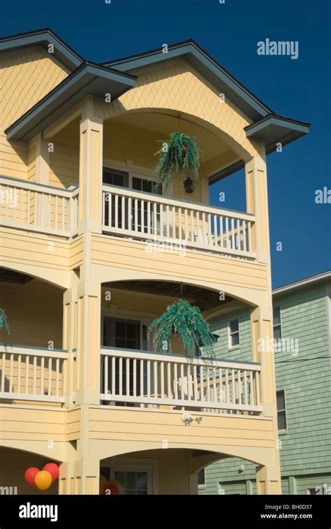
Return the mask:
<path id="1" fill-rule="evenodd" d="M 50 27 L 80 55 L 107 61 L 194 38 L 280 115 L 311 123 L 308 136 L 268 157 L 272 282 L 331 268 L 330 0 L 2 0 L 0 34 Z M 257 55 L 258 41 L 298 41 L 299 57 Z M 242 175 L 212 187 L 244 209 Z M 282 251 L 276 251 L 277 242 Z"/>

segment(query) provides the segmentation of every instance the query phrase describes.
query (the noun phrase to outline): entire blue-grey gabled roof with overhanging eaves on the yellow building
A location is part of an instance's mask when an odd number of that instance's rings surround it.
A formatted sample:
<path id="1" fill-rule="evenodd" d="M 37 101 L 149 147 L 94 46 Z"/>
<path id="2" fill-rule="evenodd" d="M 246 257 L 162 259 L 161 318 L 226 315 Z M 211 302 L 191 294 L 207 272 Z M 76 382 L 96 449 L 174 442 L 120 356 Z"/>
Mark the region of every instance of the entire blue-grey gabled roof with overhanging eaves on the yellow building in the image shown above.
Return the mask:
<path id="1" fill-rule="evenodd" d="M 244 129 L 246 136 L 263 140 L 267 154 L 276 150 L 277 143 L 287 145 L 309 131 L 309 123 L 274 113 L 193 39 L 169 45 L 166 53 L 159 48 L 97 64 L 93 61 L 85 61 L 54 31 L 45 28 L 0 38 L 0 52 L 29 45 L 43 45 L 47 50 L 50 44 L 54 45 L 54 56 L 71 69 L 72 73 L 6 129 L 8 139 L 27 140 L 31 138 L 45 126 L 45 119 L 54 119 L 54 117 L 56 119 L 87 94 L 104 94 L 103 89 L 107 82 L 111 84 L 105 92 L 109 92 L 111 88 L 112 101 L 114 101 L 134 87 L 136 76 L 130 75 L 132 70 L 138 70 L 149 64 L 162 64 L 175 57 L 183 57 L 188 61 L 196 71 L 220 93 L 226 94 L 228 99 L 251 119 L 252 123 Z M 76 92 L 75 89 L 77 89 Z M 240 163 L 235 164 L 233 168 Z M 226 168 L 216 173 L 209 179 L 209 183 L 216 182 L 230 174 L 233 168 Z"/>

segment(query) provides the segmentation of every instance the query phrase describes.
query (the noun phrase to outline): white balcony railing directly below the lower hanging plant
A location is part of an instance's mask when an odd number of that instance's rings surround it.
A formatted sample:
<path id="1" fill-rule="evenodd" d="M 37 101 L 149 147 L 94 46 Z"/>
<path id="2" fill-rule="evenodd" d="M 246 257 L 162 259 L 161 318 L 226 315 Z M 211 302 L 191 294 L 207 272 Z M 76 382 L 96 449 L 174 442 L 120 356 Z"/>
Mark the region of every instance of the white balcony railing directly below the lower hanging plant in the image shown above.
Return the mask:
<path id="1" fill-rule="evenodd" d="M 199 410 L 262 411 L 260 364 L 101 349 L 101 400 Z"/>

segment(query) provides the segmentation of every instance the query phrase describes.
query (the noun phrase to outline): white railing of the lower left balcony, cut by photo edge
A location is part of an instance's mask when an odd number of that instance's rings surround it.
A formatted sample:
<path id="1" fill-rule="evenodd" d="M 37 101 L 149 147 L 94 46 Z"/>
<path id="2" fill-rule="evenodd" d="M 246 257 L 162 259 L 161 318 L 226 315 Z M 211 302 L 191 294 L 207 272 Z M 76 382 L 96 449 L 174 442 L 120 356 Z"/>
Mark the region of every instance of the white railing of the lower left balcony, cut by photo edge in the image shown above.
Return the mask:
<path id="1" fill-rule="evenodd" d="M 64 403 L 66 351 L 0 345 L 0 398 Z"/>

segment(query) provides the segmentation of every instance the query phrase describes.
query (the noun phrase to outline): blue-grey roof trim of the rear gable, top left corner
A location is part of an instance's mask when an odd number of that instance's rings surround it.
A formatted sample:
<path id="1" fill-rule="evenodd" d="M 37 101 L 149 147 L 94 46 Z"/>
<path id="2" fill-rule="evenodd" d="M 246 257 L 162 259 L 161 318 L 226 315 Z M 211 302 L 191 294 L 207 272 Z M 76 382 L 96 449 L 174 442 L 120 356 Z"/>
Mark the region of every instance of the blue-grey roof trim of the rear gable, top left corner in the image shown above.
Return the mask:
<path id="1" fill-rule="evenodd" d="M 54 45 L 54 57 L 64 66 L 74 70 L 84 59 L 78 55 L 71 46 L 65 43 L 57 34 L 49 28 L 27 31 L 16 35 L 8 35 L 0 38 L 0 52 L 25 48 L 27 46 L 41 45 L 47 50 L 49 44 Z"/>

